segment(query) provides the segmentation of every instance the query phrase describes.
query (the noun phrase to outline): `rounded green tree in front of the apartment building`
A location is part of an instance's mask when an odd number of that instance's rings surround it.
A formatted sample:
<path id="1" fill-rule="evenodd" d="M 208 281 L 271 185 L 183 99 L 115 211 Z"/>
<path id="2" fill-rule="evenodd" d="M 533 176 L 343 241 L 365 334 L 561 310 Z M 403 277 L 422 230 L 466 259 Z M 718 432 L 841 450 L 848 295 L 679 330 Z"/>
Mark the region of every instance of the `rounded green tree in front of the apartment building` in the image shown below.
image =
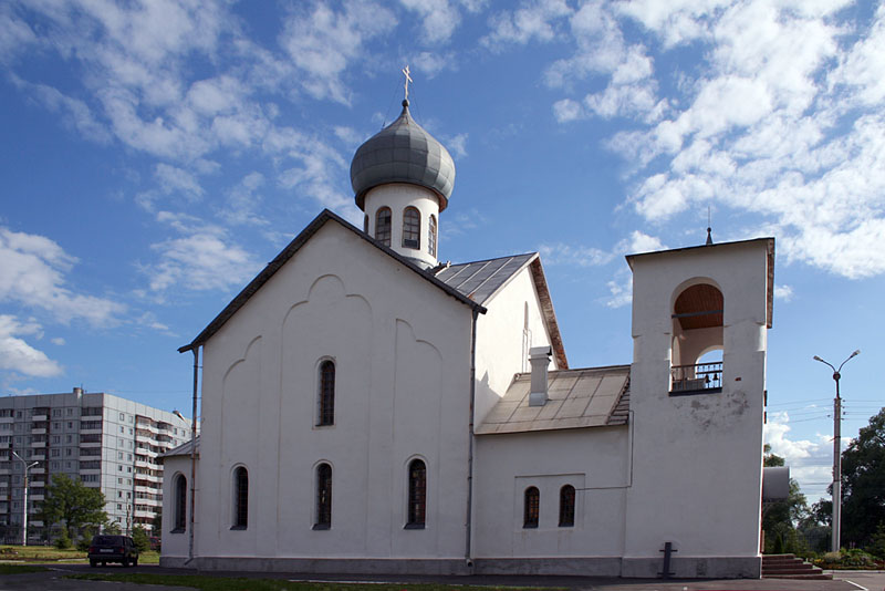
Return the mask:
<path id="1" fill-rule="evenodd" d="M 83 527 L 107 521 L 104 495 L 97 488 L 88 488 L 65 474 L 53 475 L 52 484 L 46 487 L 41 519 L 45 525 L 63 521 L 69 532 L 79 536 Z"/>

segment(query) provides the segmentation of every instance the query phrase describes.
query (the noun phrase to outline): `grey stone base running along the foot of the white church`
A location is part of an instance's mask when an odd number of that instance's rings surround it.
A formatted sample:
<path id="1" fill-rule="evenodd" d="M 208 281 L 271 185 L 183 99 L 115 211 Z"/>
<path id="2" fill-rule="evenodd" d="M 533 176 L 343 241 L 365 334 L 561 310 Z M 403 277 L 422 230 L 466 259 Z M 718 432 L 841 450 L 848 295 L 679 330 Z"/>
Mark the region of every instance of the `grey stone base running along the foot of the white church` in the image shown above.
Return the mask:
<path id="1" fill-rule="evenodd" d="M 162 557 L 160 567 L 207 571 L 299 572 L 316 574 L 551 574 L 659 579 L 660 558 L 480 558 L 472 566 L 462 559 L 330 559 Z M 760 557 L 679 557 L 670 561 L 675 579 L 759 579 Z"/>

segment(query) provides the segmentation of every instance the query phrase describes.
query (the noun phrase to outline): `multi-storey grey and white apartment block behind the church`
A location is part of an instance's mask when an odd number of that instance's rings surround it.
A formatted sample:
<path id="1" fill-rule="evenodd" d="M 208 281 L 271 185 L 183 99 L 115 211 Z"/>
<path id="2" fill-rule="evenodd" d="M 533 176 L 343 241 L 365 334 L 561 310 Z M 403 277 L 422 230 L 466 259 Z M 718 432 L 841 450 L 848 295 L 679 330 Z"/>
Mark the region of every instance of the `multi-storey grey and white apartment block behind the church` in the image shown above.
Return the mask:
<path id="1" fill-rule="evenodd" d="M 0 398 L 0 540 L 21 540 L 25 465 L 33 465 L 29 540 L 43 539 L 51 526 L 39 520 L 39 507 L 56 474 L 101 489 L 108 520 L 121 530 L 136 525 L 153 530 L 163 506 L 157 456 L 189 439 L 190 424 L 180 413 L 101 392 L 75 387 Z"/>

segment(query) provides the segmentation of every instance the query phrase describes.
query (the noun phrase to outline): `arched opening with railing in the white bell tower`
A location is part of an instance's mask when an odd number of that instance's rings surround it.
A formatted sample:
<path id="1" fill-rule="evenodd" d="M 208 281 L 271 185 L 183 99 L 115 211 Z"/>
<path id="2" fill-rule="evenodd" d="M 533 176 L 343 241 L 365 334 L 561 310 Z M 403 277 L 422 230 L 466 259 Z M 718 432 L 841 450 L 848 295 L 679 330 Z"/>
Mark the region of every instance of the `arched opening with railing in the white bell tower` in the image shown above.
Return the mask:
<path id="1" fill-rule="evenodd" d="M 725 299 L 711 282 L 681 289 L 673 305 L 670 394 L 722 390 Z"/>

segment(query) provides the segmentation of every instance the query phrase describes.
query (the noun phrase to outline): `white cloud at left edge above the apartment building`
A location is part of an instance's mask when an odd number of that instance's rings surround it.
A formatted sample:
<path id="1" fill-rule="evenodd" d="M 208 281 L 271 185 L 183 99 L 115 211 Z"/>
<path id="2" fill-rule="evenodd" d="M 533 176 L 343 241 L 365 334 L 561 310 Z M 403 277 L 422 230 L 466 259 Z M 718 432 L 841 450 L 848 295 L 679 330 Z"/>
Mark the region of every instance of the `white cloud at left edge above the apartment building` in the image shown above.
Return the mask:
<path id="1" fill-rule="evenodd" d="M 118 321 L 125 307 L 71 290 L 65 274 L 77 262 L 43 236 L 0 228 L 0 301 L 41 309 L 64 324 L 85 320 L 93 325 Z"/>

